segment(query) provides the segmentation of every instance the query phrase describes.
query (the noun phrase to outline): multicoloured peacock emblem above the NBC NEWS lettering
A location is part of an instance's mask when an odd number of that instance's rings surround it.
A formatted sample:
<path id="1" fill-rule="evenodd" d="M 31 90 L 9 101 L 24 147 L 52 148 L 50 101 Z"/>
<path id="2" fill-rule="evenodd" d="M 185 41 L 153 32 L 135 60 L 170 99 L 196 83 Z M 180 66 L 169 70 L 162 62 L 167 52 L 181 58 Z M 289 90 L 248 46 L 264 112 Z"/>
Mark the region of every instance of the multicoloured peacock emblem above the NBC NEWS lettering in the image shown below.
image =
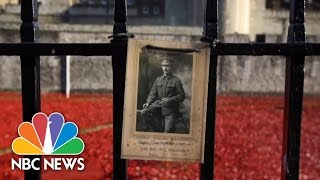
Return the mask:
<path id="1" fill-rule="evenodd" d="M 65 123 L 58 112 L 49 117 L 41 112 L 35 114 L 32 123 L 20 124 L 18 133 L 20 137 L 11 146 L 18 155 L 79 155 L 84 150 L 82 139 L 76 137 L 77 125 Z"/>

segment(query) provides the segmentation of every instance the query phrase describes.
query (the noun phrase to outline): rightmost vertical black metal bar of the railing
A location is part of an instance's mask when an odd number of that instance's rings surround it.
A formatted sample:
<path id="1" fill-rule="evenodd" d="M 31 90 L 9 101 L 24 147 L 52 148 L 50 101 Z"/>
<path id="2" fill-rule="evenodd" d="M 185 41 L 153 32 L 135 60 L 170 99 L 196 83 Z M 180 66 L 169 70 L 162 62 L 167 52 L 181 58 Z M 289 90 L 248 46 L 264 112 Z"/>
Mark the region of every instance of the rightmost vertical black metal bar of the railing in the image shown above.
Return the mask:
<path id="1" fill-rule="evenodd" d="M 304 0 L 292 0 L 288 43 L 305 42 Z M 299 179 L 304 55 L 287 56 L 283 121 L 282 179 Z"/>

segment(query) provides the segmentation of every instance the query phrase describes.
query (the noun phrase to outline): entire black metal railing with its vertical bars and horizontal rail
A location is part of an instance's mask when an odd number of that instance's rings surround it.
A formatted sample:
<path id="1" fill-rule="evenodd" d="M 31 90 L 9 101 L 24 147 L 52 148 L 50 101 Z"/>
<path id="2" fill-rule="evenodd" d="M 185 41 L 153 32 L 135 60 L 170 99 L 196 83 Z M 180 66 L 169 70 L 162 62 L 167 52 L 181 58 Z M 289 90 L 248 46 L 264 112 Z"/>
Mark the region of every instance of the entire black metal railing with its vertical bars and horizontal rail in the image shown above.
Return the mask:
<path id="1" fill-rule="evenodd" d="M 218 43 L 218 0 L 207 0 L 203 42 L 210 43 L 209 94 L 207 101 L 206 139 L 201 179 L 214 178 L 214 143 L 216 115 L 217 57 L 219 55 L 286 56 L 285 110 L 282 153 L 282 180 L 299 179 L 301 112 L 303 102 L 305 56 L 320 55 L 319 43 L 305 43 L 304 0 L 291 0 L 287 43 Z M 37 1 L 21 1 L 21 43 L 0 44 L 0 55 L 20 56 L 23 120 L 30 121 L 40 112 L 40 56 L 83 55 L 112 56 L 113 67 L 113 178 L 127 178 L 127 161 L 120 158 L 123 101 L 126 72 L 127 34 L 126 0 L 115 1 L 111 43 L 50 44 L 38 43 Z M 34 156 L 28 156 L 35 158 Z M 41 163 L 41 162 L 39 162 Z M 25 179 L 41 179 L 41 171 L 25 171 Z"/>

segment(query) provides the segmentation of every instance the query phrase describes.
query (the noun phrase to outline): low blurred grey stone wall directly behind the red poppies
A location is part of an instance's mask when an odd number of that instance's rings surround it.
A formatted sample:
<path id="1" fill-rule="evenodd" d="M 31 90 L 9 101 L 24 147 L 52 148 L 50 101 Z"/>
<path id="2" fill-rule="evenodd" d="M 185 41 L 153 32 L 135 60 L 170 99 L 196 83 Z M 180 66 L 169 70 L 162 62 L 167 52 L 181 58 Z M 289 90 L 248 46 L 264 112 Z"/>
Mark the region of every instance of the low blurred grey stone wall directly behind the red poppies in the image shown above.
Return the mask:
<path id="1" fill-rule="evenodd" d="M 0 27 L 0 42 L 20 42 L 20 24 Z M 112 34 L 111 25 L 54 25 L 40 27 L 40 42 L 106 43 Z M 129 26 L 137 39 L 199 41 L 198 27 Z M 267 42 L 281 41 L 267 35 Z M 227 35 L 225 42 L 249 42 L 249 37 Z M 320 42 L 311 36 L 308 42 Z M 71 91 L 112 91 L 111 57 L 71 56 Z M 41 89 L 43 92 L 64 91 L 66 57 L 41 57 Z M 187 71 L 187 70 L 186 70 Z M 179 72 L 187 73 L 187 72 Z M 20 90 L 19 57 L 0 56 L 0 90 Z M 220 56 L 218 62 L 218 93 L 283 93 L 285 57 L 283 56 Z M 320 57 L 307 57 L 305 87 L 308 94 L 320 93 Z"/>

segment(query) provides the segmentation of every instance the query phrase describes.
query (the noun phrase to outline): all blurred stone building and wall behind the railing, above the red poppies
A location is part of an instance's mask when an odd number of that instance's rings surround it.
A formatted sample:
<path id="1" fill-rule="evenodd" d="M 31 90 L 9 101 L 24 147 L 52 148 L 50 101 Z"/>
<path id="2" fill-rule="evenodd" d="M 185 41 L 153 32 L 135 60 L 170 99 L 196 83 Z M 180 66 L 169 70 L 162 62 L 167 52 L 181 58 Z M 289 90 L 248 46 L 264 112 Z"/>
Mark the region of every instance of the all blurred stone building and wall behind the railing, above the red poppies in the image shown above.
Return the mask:
<path id="1" fill-rule="evenodd" d="M 138 6 L 138 2 L 157 1 Z M 204 0 L 128 0 L 128 30 L 138 39 L 199 41 Z M 136 2 L 136 3 L 134 3 Z M 286 0 L 225 0 L 220 3 L 225 42 L 283 42 L 288 26 Z M 281 2 L 281 3 L 279 3 Z M 319 0 L 308 0 L 308 42 L 320 42 Z M 112 34 L 113 9 L 109 0 L 39 0 L 40 42 L 106 43 Z M 19 0 L 0 0 L 0 42 L 20 42 Z M 109 9 L 108 9 L 109 8 Z M 162 8 L 162 9 L 161 9 Z M 152 9 L 152 12 L 151 12 Z M 154 10 L 156 9 L 156 10 Z M 181 10 L 177 10 L 181 9 Z M 155 12 L 154 12 L 155 11 Z M 144 14 L 146 13 L 146 14 Z M 148 15 L 152 13 L 152 15 Z M 144 15 L 143 15 L 144 14 Z M 172 25 L 172 26 L 171 26 Z M 174 26 L 173 26 L 174 25 Z M 110 57 L 41 57 L 42 91 L 63 91 L 66 59 L 70 59 L 72 91 L 112 91 Z M 219 93 L 283 93 L 285 57 L 222 56 L 218 63 Z M 307 57 L 305 89 L 320 94 L 319 57 Z M 0 57 L 0 90 L 19 90 L 19 57 Z"/>

